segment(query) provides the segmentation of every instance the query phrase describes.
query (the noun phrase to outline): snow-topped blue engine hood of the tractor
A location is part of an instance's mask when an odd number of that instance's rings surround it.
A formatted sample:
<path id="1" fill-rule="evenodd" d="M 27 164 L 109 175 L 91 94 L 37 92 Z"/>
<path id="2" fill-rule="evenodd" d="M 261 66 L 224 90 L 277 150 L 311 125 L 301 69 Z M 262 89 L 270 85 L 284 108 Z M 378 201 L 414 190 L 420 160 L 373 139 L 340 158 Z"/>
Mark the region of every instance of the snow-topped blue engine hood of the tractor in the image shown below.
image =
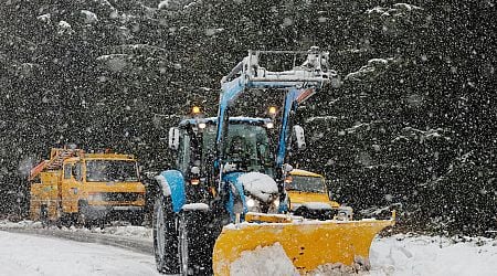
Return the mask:
<path id="1" fill-rule="evenodd" d="M 269 202 L 274 194 L 278 193 L 276 181 L 261 172 L 231 172 L 226 173 L 224 179 L 241 184 L 246 194 L 262 202 Z"/>

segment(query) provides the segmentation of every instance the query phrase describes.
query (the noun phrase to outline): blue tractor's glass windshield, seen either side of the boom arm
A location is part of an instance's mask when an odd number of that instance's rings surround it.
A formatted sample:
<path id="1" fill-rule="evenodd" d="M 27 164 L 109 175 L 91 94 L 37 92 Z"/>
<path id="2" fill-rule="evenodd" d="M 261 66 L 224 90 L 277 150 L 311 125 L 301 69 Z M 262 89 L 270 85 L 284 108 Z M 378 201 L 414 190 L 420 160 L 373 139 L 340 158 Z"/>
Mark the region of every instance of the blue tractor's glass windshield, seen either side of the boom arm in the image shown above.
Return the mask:
<path id="1" fill-rule="evenodd" d="M 215 126 L 203 132 L 203 155 L 212 153 L 215 140 Z M 265 127 L 248 124 L 230 124 L 224 144 L 224 160 L 241 163 L 247 171 L 271 174 L 273 158 Z"/>

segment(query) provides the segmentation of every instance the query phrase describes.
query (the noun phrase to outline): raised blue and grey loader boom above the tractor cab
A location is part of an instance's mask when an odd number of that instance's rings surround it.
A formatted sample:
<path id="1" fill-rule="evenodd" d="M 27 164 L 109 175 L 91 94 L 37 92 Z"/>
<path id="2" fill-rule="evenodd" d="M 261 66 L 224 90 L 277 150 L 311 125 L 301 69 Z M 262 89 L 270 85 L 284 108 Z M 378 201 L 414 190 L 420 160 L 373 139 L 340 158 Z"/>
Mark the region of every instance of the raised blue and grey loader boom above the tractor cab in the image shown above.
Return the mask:
<path id="1" fill-rule="evenodd" d="M 289 71 L 271 72 L 260 65 L 262 55 L 293 54 L 306 55 L 302 65 L 295 65 Z M 279 130 L 278 149 L 276 153 L 275 169 L 278 171 L 283 166 L 286 145 L 288 140 L 289 115 L 299 103 L 313 96 L 330 77 L 336 77 L 334 71 L 328 72 L 328 53 L 320 52 L 318 47 L 311 47 L 307 52 L 289 51 L 248 51 L 248 55 L 243 59 L 229 75 L 221 81 L 221 96 L 218 109 L 218 131 L 215 138 L 216 169 L 222 164 L 224 152 L 223 142 L 228 128 L 230 107 L 235 99 L 248 89 L 284 89 L 285 102 L 282 115 L 282 126 Z M 222 173 L 222 172 L 221 172 Z"/>

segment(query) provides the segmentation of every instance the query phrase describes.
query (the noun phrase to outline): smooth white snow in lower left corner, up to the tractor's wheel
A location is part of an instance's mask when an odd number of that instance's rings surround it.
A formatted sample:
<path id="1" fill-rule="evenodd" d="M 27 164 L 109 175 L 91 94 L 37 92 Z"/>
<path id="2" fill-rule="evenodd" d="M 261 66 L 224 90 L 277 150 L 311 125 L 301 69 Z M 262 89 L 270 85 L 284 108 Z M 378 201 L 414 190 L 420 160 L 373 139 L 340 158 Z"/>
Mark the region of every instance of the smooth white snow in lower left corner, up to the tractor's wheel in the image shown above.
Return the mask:
<path id="1" fill-rule="evenodd" d="M 154 257 L 93 243 L 0 231 L 0 275 L 160 275 Z"/>

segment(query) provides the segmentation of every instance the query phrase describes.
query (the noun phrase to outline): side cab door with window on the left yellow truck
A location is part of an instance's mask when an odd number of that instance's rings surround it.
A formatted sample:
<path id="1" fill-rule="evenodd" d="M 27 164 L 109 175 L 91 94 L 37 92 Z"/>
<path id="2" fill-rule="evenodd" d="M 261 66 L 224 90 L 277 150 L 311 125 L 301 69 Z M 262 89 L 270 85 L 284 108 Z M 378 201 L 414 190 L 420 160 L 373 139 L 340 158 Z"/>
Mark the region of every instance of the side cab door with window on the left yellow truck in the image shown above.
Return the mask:
<path id="1" fill-rule="evenodd" d="M 83 194 L 83 178 L 81 162 L 66 162 L 62 176 L 62 211 L 64 213 L 77 212 L 77 203 Z"/>

